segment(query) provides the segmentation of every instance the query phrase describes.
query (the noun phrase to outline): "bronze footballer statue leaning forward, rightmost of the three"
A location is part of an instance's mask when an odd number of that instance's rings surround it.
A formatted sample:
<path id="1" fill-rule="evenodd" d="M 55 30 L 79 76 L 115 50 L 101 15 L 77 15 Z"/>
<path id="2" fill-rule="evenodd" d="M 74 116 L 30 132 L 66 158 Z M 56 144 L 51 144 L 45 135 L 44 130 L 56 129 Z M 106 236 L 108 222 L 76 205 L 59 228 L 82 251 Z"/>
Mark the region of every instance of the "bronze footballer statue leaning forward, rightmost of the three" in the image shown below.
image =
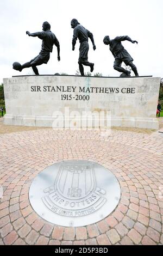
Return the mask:
<path id="1" fill-rule="evenodd" d="M 122 68 L 122 62 L 124 62 L 127 66 L 130 66 L 131 69 L 133 70 L 135 76 L 139 76 L 136 66 L 133 64 L 133 58 L 130 56 L 130 54 L 124 49 L 121 41 L 130 41 L 133 44 L 138 44 L 137 41 L 133 41 L 129 38 L 128 35 L 124 36 L 117 36 L 115 39 L 111 40 L 109 38 L 109 35 L 106 35 L 104 37 L 104 44 L 110 46 L 110 51 L 112 52 L 115 62 L 114 62 L 114 69 L 126 74 L 126 76 L 130 76 L 130 71 L 125 70 Z"/>

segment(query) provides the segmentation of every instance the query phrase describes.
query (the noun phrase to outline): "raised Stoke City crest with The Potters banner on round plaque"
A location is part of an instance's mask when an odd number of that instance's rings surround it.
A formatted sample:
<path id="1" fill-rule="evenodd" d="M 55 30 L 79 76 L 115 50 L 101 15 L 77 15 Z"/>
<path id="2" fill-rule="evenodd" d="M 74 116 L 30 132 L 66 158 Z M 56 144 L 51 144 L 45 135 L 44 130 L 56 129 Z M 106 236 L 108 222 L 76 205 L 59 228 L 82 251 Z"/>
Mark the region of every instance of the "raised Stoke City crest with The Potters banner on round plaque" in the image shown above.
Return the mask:
<path id="1" fill-rule="evenodd" d="M 93 165 L 61 164 L 54 186 L 42 197 L 48 209 L 62 216 L 78 217 L 97 211 L 106 202 L 105 190 L 96 187 Z"/>

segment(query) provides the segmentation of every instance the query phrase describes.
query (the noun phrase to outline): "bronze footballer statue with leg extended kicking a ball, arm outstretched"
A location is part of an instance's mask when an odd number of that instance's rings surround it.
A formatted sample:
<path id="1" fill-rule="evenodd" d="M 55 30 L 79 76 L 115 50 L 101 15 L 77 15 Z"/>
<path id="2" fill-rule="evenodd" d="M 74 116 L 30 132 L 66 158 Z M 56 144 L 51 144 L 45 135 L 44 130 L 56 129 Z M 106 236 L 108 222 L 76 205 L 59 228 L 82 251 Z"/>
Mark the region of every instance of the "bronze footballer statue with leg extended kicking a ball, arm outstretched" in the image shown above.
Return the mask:
<path id="1" fill-rule="evenodd" d="M 29 36 L 37 36 L 39 39 L 42 40 L 42 47 L 41 52 L 38 56 L 34 59 L 30 60 L 23 65 L 18 62 L 13 63 L 13 69 L 22 71 L 22 69 L 32 67 L 35 75 L 39 75 L 39 71 L 36 66 L 42 65 L 43 63 L 47 64 L 50 58 L 50 53 L 53 51 L 53 45 L 57 46 L 58 51 L 58 61 L 60 61 L 60 45 L 57 37 L 50 31 L 51 25 L 45 21 L 42 25 L 42 32 L 30 33 L 29 31 L 26 32 Z"/>

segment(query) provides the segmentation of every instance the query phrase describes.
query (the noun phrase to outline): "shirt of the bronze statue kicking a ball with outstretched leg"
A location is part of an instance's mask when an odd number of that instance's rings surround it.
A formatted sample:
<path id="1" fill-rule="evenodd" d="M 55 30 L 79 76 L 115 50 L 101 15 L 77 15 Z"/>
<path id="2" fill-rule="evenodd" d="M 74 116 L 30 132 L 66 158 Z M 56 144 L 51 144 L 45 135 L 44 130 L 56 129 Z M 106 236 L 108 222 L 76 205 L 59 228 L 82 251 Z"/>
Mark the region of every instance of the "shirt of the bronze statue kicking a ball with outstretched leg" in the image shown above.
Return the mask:
<path id="1" fill-rule="evenodd" d="M 51 31 L 37 32 L 38 38 L 42 39 L 41 51 L 52 52 L 53 45 L 59 46 L 57 37 Z"/>

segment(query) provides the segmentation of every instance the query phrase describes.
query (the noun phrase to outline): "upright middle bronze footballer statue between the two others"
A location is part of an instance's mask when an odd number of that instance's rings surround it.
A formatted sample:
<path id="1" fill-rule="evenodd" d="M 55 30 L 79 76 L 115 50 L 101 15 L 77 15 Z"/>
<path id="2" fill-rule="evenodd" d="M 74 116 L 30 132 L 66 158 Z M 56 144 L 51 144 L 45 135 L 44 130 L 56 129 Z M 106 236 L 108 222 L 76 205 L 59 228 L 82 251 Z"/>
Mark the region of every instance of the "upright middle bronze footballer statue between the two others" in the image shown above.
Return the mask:
<path id="1" fill-rule="evenodd" d="M 91 39 L 93 50 L 96 50 L 95 42 L 93 39 L 93 34 L 88 31 L 86 28 L 84 28 L 80 23 L 73 19 L 71 21 L 71 27 L 74 28 L 73 30 L 73 39 L 72 39 L 72 51 L 75 49 L 76 41 L 79 39 L 80 42 L 80 48 L 79 48 L 79 70 L 80 74 L 84 76 L 84 66 L 90 66 L 91 72 L 93 72 L 94 69 L 94 63 L 90 63 L 87 60 L 87 53 L 89 51 L 89 44 L 88 44 L 88 38 Z"/>

